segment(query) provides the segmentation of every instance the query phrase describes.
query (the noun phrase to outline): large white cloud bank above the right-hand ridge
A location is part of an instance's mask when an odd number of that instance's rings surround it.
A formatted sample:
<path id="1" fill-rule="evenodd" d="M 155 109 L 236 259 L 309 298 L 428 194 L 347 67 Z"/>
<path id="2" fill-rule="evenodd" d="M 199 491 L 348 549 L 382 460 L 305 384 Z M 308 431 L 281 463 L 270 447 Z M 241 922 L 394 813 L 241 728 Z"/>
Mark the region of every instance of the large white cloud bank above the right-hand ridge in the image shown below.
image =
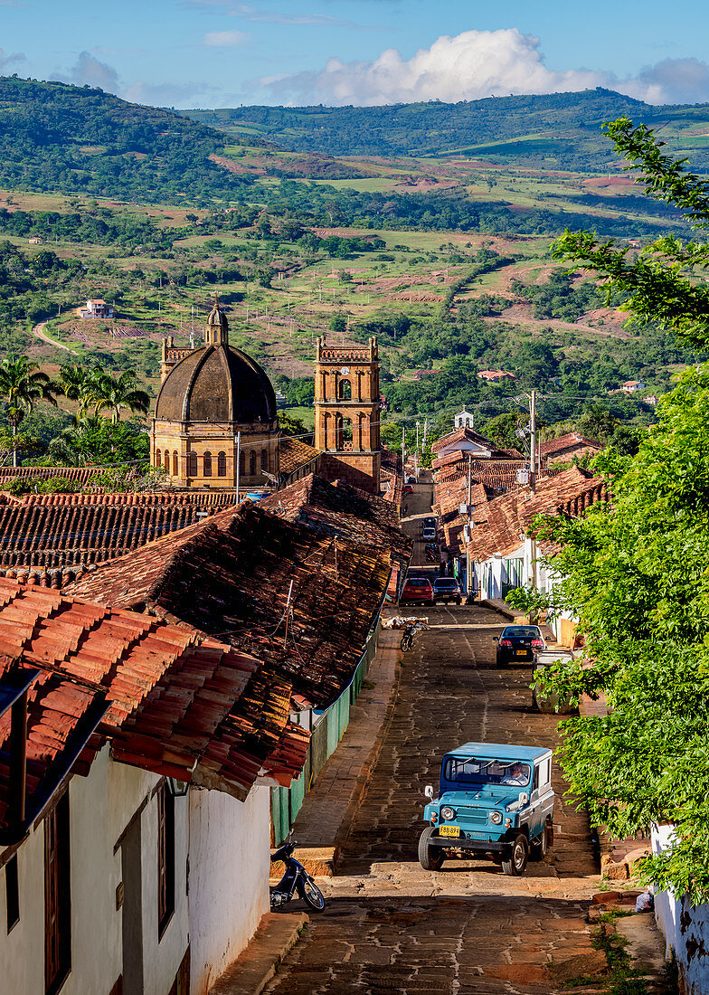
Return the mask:
<path id="1" fill-rule="evenodd" d="M 403 59 L 387 49 L 372 62 L 329 59 L 320 72 L 260 81 L 274 97 L 358 105 L 417 100 L 478 100 L 609 87 L 653 103 L 709 100 L 709 68 L 698 60 L 664 60 L 636 78 L 588 69 L 552 70 L 540 41 L 517 28 L 442 35 Z"/>

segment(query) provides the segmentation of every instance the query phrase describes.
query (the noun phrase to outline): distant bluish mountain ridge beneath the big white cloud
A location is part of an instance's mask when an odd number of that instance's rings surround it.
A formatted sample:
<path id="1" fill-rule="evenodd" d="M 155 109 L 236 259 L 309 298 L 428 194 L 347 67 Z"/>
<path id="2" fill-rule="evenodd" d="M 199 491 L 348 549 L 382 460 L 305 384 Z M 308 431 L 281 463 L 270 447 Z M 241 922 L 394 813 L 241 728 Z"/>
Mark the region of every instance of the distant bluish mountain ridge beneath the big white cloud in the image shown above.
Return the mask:
<path id="1" fill-rule="evenodd" d="M 248 106 L 180 111 L 232 137 L 261 136 L 282 148 L 329 155 L 522 159 L 546 168 L 599 171 L 616 160 L 601 133 L 626 114 L 661 127 L 669 148 L 709 168 L 709 105 L 657 107 L 611 90 L 404 103 L 379 107 Z M 702 127 L 703 125 L 703 127 Z"/>

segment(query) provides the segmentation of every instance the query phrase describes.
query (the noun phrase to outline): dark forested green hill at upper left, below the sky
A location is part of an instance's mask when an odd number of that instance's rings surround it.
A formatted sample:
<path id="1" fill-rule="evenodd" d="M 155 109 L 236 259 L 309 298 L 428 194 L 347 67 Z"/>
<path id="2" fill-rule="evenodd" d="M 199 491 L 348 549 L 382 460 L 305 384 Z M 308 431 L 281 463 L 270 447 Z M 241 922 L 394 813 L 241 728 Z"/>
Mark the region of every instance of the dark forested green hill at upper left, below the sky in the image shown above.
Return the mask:
<path id="1" fill-rule="evenodd" d="M 0 186 L 139 202 L 243 199 L 224 134 L 100 90 L 0 77 Z"/>

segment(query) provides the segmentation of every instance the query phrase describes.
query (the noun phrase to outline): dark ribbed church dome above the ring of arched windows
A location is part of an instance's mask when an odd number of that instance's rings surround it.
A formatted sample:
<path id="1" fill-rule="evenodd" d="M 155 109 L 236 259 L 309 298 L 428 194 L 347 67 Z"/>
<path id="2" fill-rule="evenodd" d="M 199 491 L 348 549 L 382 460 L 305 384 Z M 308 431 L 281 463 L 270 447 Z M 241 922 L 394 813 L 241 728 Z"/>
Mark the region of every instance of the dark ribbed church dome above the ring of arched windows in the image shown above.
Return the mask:
<path id="1" fill-rule="evenodd" d="M 188 353 L 170 370 L 157 396 L 155 418 L 270 423 L 276 418 L 275 394 L 259 363 L 241 349 L 206 345 Z"/>

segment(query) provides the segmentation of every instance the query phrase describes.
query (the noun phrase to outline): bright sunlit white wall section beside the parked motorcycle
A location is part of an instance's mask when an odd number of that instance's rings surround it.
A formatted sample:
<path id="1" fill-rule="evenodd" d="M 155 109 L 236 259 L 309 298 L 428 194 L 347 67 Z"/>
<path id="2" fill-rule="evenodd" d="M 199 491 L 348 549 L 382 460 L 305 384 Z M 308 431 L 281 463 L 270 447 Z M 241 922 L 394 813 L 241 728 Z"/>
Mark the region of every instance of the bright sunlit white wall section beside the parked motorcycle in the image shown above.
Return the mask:
<path id="1" fill-rule="evenodd" d="M 190 791 L 192 995 L 204 995 L 268 910 L 269 790 Z"/>

